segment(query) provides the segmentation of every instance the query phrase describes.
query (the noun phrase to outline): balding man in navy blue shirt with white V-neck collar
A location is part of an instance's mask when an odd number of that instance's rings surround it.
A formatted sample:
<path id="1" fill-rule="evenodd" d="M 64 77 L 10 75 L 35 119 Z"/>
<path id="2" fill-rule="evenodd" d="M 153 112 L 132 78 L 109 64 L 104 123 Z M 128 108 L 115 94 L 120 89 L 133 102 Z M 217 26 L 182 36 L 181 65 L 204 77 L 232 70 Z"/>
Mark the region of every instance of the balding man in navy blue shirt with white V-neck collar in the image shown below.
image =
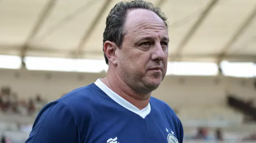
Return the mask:
<path id="1" fill-rule="evenodd" d="M 115 5 L 103 33 L 107 76 L 46 105 L 26 142 L 182 143 L 176 114 L 150 97 L 167 70 L 166 20 L 151 3 Z"/>

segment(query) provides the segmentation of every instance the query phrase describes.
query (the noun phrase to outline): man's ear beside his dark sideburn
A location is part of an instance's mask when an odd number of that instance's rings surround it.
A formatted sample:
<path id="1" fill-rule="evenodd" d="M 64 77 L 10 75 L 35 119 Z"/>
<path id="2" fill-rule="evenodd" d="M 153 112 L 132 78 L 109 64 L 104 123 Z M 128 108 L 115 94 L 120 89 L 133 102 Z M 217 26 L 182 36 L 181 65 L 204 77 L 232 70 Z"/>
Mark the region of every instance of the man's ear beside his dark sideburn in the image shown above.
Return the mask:
<path id="1" fill-rule="evenodd" d="M 115 43 L 113 42 L 106 41 L 103 45 L 103 48 L 104 48 L 105 55 L 109 59 L 109 62 L 111 62 L 114 65 L 117 65 L 118 64 L 118 60 L 117 60 L 118 46 L 115 45 Z"/>

